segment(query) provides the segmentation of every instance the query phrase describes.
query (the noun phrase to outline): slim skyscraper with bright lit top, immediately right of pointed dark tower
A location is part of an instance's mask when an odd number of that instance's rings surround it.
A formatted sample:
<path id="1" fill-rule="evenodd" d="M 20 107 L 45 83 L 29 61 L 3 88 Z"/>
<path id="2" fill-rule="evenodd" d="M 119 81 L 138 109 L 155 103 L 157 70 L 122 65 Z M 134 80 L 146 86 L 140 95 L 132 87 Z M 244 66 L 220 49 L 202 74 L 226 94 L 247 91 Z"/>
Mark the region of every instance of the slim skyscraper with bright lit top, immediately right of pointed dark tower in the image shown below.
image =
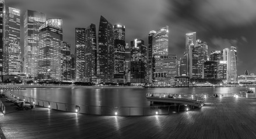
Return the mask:
<path id="1" fill-rule="evenodd" d="M 124 83 L 124 63 L 125 63 L 125 26 L 114 25 L 114 47 L 115 47 L 115 83 Z"/>

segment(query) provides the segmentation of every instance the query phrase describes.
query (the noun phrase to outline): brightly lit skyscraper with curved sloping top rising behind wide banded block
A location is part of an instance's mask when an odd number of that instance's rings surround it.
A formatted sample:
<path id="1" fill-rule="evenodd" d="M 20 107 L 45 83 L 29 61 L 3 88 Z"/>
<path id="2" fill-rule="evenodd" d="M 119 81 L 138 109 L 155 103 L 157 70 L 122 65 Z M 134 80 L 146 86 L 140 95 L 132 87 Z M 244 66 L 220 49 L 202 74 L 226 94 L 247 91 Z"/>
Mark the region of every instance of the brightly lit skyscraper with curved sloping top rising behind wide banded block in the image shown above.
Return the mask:
<path id="1" fill-rule="evenodd" d="M 155 54 L 167 55 L 169 45 L 169 27 L 163 27 L 153 35 L 152 56 Z"/>

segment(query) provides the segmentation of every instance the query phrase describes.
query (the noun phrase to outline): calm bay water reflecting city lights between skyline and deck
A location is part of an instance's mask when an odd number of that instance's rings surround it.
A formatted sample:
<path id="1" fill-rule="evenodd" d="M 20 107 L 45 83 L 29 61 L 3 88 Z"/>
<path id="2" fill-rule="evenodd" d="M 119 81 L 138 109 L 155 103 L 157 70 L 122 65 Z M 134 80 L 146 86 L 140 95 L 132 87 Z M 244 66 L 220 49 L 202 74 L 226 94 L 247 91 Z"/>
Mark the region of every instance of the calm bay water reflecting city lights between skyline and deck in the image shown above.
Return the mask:
<path id="1" fill-rule="evenodd" d="M 211 87 L 211 88 L 142 88 L 142 87 L 45 87 L 13 90 L 26 97 L 66 104 L 97 105 L 107 107 L 145 107 L 149 106 L 146 93 L 239 93 L 246 87 Z"/>

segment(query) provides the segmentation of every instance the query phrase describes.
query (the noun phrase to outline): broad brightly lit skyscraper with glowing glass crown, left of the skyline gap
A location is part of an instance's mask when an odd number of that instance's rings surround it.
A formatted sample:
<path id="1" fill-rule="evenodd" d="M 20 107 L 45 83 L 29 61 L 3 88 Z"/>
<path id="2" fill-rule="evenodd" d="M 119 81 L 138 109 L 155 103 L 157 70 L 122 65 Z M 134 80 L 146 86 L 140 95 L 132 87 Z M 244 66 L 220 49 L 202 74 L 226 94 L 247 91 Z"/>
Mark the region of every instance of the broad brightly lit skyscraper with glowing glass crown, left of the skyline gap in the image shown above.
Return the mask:
<path id="1" fill-rule="evenodd" d="M 62 19 L 48 19 L 39 28 L 38 79 L 62 81 Z"/>

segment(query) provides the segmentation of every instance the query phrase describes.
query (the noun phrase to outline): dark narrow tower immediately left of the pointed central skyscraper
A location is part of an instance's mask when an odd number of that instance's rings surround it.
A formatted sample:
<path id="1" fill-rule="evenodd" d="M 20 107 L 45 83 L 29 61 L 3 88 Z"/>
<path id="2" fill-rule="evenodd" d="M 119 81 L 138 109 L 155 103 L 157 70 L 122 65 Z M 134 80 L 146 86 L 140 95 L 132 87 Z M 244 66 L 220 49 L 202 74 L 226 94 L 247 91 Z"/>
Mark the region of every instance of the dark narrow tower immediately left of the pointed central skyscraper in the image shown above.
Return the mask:
<path id="1" fill-rule="evenodd" d="M 97 39 L 95 24 L 90 24 L 85 31 L 85 82 L 97 83 Z"/>

